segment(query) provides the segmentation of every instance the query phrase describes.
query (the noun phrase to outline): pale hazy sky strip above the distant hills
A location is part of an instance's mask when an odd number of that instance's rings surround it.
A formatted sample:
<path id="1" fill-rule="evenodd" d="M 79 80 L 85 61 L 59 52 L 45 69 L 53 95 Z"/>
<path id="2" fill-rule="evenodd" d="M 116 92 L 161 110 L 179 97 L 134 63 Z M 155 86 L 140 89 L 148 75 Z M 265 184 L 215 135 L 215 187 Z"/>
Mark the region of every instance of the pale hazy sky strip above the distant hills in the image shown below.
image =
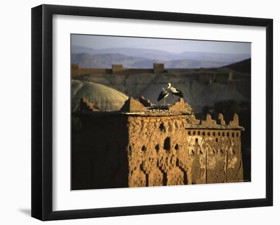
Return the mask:
<path id="1" fill-rule="evenodd" d="M 72 35 L 71 44 L 94 48 L 145 48 L 157 49 L 174 53 L 191 52 L 217 52 L 217 53 L 251 53 L 250 43 L 219 42 L 219 41 L 193 41 L 176 39 L 130 38 L 95 35 Z"/>

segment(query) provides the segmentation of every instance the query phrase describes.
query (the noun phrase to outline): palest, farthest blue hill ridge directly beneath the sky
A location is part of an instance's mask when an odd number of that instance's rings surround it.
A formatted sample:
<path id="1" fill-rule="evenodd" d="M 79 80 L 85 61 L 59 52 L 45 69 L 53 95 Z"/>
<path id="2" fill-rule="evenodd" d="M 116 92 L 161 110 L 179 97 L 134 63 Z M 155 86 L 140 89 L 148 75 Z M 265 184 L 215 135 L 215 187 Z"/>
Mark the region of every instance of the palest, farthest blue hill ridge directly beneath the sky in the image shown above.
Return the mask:
<path id="1" fill-rule="evenodd" d="M 250 57 L 250 54 L 227 54 L 215 52 L 182 52 L 173 53 L 156 49 L 143 49 L 143 48 L 108 48 L 108 49 L 92 49 L 73 45 L 71 46 L 71 53 L 88 53 L 91 55 L 99 54 L 122 54 L 133 57 L 144 57 L 152 60 L 207 60 L 233 63 L 244 60 Z"/>

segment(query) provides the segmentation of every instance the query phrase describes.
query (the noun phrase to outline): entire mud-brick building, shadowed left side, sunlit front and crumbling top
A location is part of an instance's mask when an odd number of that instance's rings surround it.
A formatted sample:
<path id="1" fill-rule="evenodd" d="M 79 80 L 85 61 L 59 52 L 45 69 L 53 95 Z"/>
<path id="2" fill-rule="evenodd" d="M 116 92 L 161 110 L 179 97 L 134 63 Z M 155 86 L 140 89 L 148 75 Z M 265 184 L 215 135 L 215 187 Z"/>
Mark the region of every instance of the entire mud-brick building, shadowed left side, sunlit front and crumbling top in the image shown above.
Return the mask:
<path id="1" fill-rule="evenodd" d="M 221 114 L 198 120 L 175 108 L 139 111 L 139 104 L 129 98 L 123 111 L 78 114 L 87 152 L 77 173 L 87 181 L 82 189 L 243 181 L 237 115 L 229 123 Z"/>

